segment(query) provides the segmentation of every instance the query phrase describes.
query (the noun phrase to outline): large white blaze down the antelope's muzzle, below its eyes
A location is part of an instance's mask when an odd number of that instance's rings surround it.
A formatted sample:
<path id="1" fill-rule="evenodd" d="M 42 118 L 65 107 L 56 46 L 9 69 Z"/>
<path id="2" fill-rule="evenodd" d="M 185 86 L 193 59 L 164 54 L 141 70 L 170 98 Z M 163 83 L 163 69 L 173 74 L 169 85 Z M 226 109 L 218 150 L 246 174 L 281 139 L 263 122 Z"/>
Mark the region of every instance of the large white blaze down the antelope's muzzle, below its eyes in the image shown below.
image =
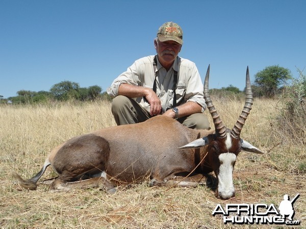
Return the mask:
<path id="1" fill-rule="evenodd" d="M 230 198 L 235 193 L 233 184 L 233 165 L 236 155 L 233 153 L 223 153 L 219 155 L 220 167 L 218 175 L 218 192 L 222 198 Z"/>

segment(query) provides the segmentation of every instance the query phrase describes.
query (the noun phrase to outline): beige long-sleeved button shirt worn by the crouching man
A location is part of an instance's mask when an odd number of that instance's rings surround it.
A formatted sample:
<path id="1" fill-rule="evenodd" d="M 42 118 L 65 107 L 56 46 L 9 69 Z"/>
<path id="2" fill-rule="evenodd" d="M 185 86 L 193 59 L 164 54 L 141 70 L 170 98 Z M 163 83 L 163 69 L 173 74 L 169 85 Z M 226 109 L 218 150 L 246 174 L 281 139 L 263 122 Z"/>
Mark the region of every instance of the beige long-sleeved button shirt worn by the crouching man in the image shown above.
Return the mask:
<path id="1" fill-rule="evenodd" d="M 125 72 L 119 75 L 107 89 L 111 97 L 118 95 L 118 88 L 121 83 L 129 83 L 134 86 L 141 86 L 153 89 L 155 81 L 154 55 L 149 55 L 134 62 Z M 173 107 L 174 95 L 174 71 L 177 71 L 177 84 L 175 88 L 176 105 L 192 101 L 202 106 L 202 112 L 206 109 L 203 98 L 203 84 L 195 64 L 187 59 L 177 56 L 172 67 L 167 72 L 159 63 L 157 58 L 157 91 L 156 94 L 161 100 L 163 113 Z M 147 111 L 150 105 L 144 97 L 133 98 Z"/>

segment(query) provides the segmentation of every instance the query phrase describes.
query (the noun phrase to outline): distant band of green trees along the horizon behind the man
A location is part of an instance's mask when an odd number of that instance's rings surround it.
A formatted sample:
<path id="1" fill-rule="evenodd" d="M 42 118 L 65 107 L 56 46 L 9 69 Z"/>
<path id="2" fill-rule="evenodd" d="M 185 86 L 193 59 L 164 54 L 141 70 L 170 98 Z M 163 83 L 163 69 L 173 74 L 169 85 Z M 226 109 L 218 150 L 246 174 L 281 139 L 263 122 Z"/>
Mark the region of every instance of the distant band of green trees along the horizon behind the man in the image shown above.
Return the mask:
<path id="1" fill-rule="evenodd" d="M 272 98 L 282 95 L 288 80 L 292 79 L 291 71 L 287 68 L 274 65 L 268 66 L 254 75 L 252 84 L 254 97 Z M 243 98 L 244 93 L 239 88 L 230 84 L 228 87 L 213 89 L 220 96 L 231 96 Z M 1 92 L 0 92 L 1 93 Z M 102 88 L 93 85 L 81 88 L 80 84 L 72 81 L 62 81 L 54 84 L 49 91 L 17 91 L 17 96 L 4 98 L 0 94 L 0 104 L 42 104 L 57 101 L 94 101 L 104 99 L 111 101 L 111 97 L 102 92 Z"/>

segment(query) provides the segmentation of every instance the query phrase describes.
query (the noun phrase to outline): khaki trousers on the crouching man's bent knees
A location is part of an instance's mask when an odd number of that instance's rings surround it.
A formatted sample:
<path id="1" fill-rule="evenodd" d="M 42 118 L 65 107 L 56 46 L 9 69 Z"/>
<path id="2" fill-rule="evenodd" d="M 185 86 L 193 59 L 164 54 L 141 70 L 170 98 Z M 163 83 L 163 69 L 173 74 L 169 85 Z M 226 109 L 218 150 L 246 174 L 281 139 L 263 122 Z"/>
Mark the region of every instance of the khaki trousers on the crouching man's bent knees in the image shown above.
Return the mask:
<path id="1" fill-rule="evenodd" d="M 150 113 L 134 99 L 121 95 L 113 99 L 112 113 L 118 126 L 141 123 L 152 118 Z M 177 121 L 192 129 L 210 129 L 208 118 L 203 113 L 193 113 L 190 116 L 179 118 Z"/>

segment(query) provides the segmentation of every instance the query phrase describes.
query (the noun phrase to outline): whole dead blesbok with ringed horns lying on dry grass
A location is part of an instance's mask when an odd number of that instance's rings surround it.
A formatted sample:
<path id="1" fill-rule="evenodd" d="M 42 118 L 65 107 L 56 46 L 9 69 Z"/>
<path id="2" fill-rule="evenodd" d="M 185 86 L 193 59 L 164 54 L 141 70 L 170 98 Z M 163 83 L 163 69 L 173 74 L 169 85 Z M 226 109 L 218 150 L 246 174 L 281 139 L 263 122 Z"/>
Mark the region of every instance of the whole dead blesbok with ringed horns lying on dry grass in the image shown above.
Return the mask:
<path id="1" fill-rule="evenodd" d="M 42 169 L 29 180 L 14 176 L 20 186 L 35 189 L 47 166 L 59 175 L 50 191 L 71 188 L 105 187 L 115 192 L 114 185 L 150 178 L 150 185 L 196 186 L 214 171 L 218 180 L 216 196 L 228 199 L 235 195 L 233 168 L 238 153 L 262 153 L 240 138 L 240 132 L 252 105 L 252 92 L 247 68 L 246 99 L 233 129 L 223 125 L 210 99 L 207 70 L 204 96 L 213 118 L 215 131 L 193 130 L 174 119 L 157 116 L 143 123 L 100 129 L 74 137 L 50 152 Z M 178 148 L 183 146 L 181 148 Z M 186 178 L 181 182 L 181 179 Z"/>

